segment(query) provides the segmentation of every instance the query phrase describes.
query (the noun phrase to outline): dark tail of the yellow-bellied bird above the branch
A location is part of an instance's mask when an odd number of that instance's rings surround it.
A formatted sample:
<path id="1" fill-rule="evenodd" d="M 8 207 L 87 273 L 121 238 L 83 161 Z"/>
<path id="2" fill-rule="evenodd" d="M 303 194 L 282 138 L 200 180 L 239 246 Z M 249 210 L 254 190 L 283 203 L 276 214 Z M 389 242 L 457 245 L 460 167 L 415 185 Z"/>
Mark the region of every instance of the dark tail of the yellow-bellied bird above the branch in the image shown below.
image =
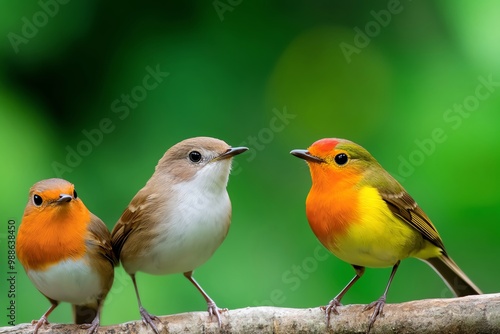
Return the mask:
<path id="1" fill-rule="evenodd" d="M 424 261 L 434 268 L 457 297 L 482 294 L 481 290 L 447 255 L 433 257 Z"/>

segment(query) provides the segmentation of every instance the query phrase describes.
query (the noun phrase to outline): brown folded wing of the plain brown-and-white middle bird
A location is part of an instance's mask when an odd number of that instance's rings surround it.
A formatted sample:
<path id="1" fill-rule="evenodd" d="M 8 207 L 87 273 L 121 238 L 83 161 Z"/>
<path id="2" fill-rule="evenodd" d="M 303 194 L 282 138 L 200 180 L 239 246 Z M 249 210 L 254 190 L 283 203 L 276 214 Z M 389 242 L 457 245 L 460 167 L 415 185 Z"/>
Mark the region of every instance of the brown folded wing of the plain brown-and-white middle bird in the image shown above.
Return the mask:
<path id="1" fill-rule="evenodd" d="M 149 195 L 146 195 L 149 193 Z M 154 192 L 141 189 L 123 211 L 120 219 L 111 232 L 111 243 L 116 258 L 120 259 L 123 245 L 133 233 L 149 233 L 147 222 L 151 221 L 148 212 L 153 212 L 151 206 L 157 205 L 159 196 Z M 146 236 L 148 237 L 148 236 Z M 139 246 L 137 246 L 139 247 Z"/>

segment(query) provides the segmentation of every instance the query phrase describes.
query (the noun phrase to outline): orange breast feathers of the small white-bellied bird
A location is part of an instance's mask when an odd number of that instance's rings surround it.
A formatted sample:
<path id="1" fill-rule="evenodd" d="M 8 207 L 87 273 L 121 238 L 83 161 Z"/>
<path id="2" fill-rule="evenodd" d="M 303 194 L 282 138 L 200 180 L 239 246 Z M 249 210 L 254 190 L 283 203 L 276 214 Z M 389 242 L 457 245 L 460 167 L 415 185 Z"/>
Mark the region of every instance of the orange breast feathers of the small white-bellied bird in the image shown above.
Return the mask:
<path id="1" fill-rule="evenodd" d="M 17 254 L 26 270 L 44 270 L 85 255 L 90 212 L 80 199 L 62 206 L 27 208 L 17 236 Z"/>

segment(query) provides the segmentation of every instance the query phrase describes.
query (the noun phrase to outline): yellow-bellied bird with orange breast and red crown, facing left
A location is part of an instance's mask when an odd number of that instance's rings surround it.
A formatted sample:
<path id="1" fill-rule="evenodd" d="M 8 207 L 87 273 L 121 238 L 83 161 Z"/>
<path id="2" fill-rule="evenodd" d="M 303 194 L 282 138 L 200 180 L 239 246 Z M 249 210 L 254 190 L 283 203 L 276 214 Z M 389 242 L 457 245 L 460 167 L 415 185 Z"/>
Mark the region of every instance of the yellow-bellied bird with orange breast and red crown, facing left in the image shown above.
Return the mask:
<path id="1" fill-rule="evenodd" d="M 325 307 L 327 322 L 338 314 L 340 300 L 363 275 L 365 267 L 391 267 L 382 296 L 366 306 L 374 309 L 368 332 L 382 314 L 387 291 L 401 260 L 428 263 L 457 296 L 481 291 L 448 256 L 429 217 L 370 153 L 345 139 L 316 141 L 293 150 L 309 165 L 312 187 L 306 200 L 309 225 L 335 256 L 350 263 L 356 276 Z"/>

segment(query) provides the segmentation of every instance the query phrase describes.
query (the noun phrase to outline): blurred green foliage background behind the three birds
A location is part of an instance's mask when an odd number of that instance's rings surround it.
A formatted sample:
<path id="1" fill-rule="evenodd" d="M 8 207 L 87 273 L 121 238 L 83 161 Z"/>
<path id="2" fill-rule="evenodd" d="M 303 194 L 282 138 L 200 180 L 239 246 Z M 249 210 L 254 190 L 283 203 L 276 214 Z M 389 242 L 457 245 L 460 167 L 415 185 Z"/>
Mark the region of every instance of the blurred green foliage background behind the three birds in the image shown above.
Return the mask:
<path id="1" fill-rule="evenodd" d="M 252 150 L 235 158 L 230 233 L 195 273 L 218 306 L 325 305 L 354 275 L 319 248 L 309 172 L 289 154 L 323 137 L 367 148 L 471 279 L 499 291 L 497 1 L 60 1 L 0 2 L 0 325 L 7 221 L 20 223 L 33 183 L 73 182 L 111 229 L 164 151 L 199 135 Z M 157 69 L 169 74 L 154 85 Z M 16 323 L 38 319 L 49 302 L 16 269 Z M 375 300 L 389 274 L 368 270 L 343 301 Z M 153 314 L 206 308 L 182 275 L 138 282 Z M 388 302 L 450 296 L 409 259 Z M 102 323 L 135 319 L 120 267 Z M 49 320 L 70 322 L 69 305 Z"/>

